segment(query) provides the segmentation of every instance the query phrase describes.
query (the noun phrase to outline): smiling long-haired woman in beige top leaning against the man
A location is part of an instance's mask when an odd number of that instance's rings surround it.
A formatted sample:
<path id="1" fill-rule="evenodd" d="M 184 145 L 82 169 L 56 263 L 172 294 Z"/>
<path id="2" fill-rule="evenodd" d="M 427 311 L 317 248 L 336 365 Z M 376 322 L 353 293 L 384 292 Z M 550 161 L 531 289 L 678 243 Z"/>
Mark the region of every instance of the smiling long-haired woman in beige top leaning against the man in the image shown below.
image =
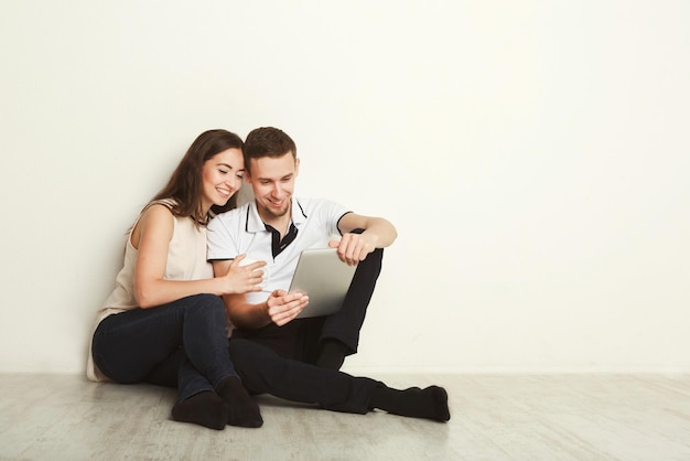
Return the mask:
<path id="1" fill-rule="evenodd" d="M 242 141 L 203 132 L 168 185 L 142 210 L 126 245 L 116 288 L 98 312 L 87 376 L 116 383 L 169 382 L 176 368 L 177 421 L 213 429 L 260 427 L 259 408 L 230 361 L 223 294 L 260 290 L 263 262 L 214 277 L 206 223 L 235 207 L 245 171 Z"/>

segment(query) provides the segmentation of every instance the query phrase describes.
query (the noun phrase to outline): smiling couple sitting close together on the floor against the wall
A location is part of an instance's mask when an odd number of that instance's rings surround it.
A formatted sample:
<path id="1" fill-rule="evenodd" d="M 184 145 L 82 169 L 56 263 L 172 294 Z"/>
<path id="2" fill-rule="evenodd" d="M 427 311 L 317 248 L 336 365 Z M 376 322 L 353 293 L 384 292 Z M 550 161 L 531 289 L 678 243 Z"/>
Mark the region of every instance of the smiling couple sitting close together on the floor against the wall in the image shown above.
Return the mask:
<path id="1" fill-rule="evenodd" d="M 174 386 L 173 419 L 213 429 L 260 427 L 252 394 L 450 419 L 442 387 L 399 390 L 339 372 L 357 351 L 382 248 L 397 233 L 384 218 L 294 197 L 299 168 L 294 142 L 277 128 L 255 129 L 245 142 L 226 130 L 196 138 L 128 235 L 96 318 L 89 379 Z M 255 199 L 237 208 L 245 179 Z M 326 246 L 357 266 L 351 289 L 338 312 L 295 319 L 309 298 L 270 283 L 290 280 L 303 249 Z"/>

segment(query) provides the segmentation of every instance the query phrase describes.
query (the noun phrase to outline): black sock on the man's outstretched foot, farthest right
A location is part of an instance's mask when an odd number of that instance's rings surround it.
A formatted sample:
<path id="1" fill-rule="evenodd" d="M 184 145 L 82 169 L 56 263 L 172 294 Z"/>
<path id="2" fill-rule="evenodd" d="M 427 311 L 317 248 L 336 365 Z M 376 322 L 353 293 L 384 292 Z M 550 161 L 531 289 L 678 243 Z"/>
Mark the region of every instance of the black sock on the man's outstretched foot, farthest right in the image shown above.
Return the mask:
<path id="1" fill-rule="evenodd" d="M 371 396 L 370 406 L 393 415 L 413 418 L 427 418 L 441 422 L 451 419 L 448 393 L 439 386 L 429 386 L 425 389 L 410 387 L 405 390 L 386 386 L 377 387 Z"/>

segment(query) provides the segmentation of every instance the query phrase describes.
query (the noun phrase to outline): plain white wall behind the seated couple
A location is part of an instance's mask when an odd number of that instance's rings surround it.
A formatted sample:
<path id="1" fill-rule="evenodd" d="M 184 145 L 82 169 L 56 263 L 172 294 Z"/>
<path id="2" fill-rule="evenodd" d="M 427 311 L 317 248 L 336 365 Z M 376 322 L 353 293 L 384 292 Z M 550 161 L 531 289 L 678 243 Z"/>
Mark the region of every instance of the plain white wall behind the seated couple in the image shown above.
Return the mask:
<path id="1" fill-rule="evenodd" d="M 398 242 L 346 369 L 690 372 L 690 3 L 4 0 L 0 372 L 82 373 L 201 131 Z"/>

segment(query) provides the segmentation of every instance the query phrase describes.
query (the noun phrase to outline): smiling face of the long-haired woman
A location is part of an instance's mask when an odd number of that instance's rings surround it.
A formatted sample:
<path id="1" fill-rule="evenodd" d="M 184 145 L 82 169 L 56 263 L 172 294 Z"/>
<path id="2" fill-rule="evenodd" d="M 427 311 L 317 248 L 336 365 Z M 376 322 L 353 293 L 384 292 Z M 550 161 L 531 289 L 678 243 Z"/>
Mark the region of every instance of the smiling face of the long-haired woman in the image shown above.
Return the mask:
<path id="1" fill-rule="evenodd" d="M 213 205 L 223 206 L 242 185 L 245 161 L 239 149 L 216 153 L 202 168 L 202 205 L 204 211 Z"/>

